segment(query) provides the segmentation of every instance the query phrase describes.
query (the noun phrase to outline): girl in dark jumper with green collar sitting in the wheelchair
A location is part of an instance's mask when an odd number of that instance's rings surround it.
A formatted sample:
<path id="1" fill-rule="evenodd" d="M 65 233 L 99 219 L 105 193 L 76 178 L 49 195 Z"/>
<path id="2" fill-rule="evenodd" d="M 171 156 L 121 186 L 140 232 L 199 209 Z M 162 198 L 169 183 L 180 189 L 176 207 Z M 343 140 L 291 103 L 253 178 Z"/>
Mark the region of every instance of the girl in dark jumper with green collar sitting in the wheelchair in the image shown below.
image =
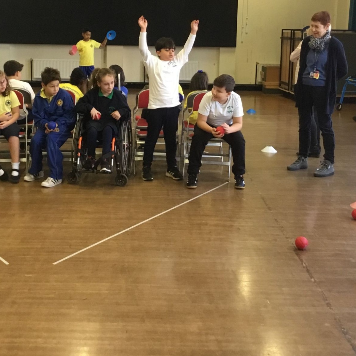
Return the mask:
<path id="1" fill-rule="evenodd" d="M 111 152 L 111 140 L 117 135 L 117 121 L 130 120 L 131 110 L 124 94 L 114 90 L 115 73 L 108 68 L 95 68 L 90 89 L 80 98 L 75 111 L 84 114 L 88 158 L 83 168 L 92 170 L 95 165 L 95 148 L 99 133 L 103 138 L 103 156 Z M 98 116 L 98 114 L 100 116 Z M 103 159 L 101 173 L 111 173 L 109 160 Z"/>

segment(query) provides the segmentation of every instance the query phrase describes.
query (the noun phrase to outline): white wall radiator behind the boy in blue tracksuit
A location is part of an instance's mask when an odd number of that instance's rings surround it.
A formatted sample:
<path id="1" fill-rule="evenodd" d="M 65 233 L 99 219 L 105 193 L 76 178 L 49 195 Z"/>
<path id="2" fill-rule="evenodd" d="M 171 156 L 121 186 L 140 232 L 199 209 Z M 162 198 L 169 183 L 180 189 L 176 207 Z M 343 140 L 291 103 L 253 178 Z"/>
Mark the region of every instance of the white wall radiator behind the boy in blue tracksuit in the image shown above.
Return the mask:
<path id="1" fill-rule="evenodd" d="M 79 67 L 79 59 L 34 59 L 31 58 L 31 80 L 41 79 L 41 72 L 46 67 L 59 70 L 62 80 L 69 80 L 70 73 Z"/>

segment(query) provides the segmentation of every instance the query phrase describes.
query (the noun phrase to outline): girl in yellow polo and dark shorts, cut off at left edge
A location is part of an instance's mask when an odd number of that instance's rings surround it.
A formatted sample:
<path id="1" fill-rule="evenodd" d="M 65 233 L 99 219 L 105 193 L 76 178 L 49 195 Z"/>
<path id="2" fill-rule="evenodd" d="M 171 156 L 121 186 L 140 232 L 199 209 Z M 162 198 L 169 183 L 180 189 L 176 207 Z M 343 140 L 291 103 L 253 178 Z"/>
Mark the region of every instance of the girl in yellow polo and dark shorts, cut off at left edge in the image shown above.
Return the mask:
<path id="1" fill-rule="evenodd" d="M 10 177 L 0 166 L 0 180 L 11 183 L 19 183 L 20 180 L 20 141 L 19 125 L 16 120 L 20 116 L 20 102 L 16 94 L 11 91 L 9 80 L 0 70 L 0 135 L 4 135 L 9 142 L 11 156 Z"/>

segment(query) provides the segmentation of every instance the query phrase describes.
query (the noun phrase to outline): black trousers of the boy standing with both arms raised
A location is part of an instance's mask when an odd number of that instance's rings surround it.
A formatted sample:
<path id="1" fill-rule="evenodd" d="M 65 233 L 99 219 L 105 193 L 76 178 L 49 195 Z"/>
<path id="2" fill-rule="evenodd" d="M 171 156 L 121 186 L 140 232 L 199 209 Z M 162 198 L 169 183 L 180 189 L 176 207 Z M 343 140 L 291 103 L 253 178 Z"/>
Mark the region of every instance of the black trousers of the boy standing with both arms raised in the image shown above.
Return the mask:
<path id="1" fill-rule="evenodd" d="M 146 114 L 147 137 L 143 149 L 143 167 L 151 167 L 153 152 L 163 126 L 164 143 L 166 144 L 166 160 L 168 169 L 176 167 L 178 116 L 180 105 L 173 108 L 148 109 Z"/>

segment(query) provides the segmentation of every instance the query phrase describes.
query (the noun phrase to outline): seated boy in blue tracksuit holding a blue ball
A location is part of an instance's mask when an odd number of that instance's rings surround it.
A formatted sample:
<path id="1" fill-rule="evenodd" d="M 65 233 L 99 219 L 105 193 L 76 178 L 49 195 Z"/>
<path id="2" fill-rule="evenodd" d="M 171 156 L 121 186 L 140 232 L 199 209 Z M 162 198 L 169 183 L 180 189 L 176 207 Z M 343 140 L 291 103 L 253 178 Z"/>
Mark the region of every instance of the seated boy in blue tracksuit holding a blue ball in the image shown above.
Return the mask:
<path id="1" fill-rule="evenodd" d="M 41 73 L 41 82 L 42 89 L 36 94 L 32 106 L 37 127 L 30 143 L 32 164 L 23 180 L 32 182 L 43 177 L 42 150 L 46 150 L 49 176 L 41 185 L 50 188 L 62 183 L 63 154 L 59 148 L 67 141 L 75 125 L 75 114 L 72 97 L 59 88 L 61 76 L 57 69 L 46 67 Z M 53 129 L 48 128 L 51 121 L 56 124 Z"/>

